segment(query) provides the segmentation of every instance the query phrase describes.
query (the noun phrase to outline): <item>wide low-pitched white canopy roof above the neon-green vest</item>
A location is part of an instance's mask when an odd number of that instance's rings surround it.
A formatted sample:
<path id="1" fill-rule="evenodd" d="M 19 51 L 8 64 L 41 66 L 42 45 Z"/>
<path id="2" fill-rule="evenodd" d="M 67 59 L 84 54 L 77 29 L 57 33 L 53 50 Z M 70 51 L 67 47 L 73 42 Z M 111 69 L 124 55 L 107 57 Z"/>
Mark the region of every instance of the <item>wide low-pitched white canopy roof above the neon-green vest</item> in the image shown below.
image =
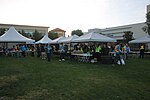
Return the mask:
<path id="1" fill-rule="evenodd" d="M 88 33 L 74 39 L 72 42 L 116 42 L 116 39 L 98 34 L 98 33 Z"/>

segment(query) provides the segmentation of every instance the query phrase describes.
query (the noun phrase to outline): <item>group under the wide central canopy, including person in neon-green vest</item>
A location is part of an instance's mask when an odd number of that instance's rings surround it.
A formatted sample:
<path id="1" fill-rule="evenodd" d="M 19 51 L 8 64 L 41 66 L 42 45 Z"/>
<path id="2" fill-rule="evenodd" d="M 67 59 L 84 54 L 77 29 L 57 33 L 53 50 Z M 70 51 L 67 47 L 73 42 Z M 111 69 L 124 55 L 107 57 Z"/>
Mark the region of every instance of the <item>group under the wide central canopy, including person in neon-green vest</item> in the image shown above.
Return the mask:
<path id="1" fill-rule="evenodd" d="M 109 56 L 110 53 L 113 53 L 114 63 L 120 61 L 119 64 L 122 64 L 121 60 L 128 59 L 128 54 L 130 52 L 130 47 L 128 44 L 122 43 L 92 43 L 92 44 L 77 44 L 74 46 L 73 53 L 90 53 L 93 56 L 90 58 L 94 59 L 95 62 L 101 61 L 101 56 Z"/>

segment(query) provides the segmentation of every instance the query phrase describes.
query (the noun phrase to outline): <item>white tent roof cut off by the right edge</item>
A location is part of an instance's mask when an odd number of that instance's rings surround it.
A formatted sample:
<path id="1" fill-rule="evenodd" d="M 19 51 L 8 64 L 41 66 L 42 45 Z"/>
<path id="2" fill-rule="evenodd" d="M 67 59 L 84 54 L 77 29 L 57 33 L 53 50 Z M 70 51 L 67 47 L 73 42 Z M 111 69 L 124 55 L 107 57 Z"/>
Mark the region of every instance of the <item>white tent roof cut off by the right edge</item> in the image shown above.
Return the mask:
<path id="1" fill-rule="evenodd" d="M 144 37 L 140 37 L 135 40 L 129 41 L 129 43 L 150 43 L 150 36 L 147 35 Z"/>

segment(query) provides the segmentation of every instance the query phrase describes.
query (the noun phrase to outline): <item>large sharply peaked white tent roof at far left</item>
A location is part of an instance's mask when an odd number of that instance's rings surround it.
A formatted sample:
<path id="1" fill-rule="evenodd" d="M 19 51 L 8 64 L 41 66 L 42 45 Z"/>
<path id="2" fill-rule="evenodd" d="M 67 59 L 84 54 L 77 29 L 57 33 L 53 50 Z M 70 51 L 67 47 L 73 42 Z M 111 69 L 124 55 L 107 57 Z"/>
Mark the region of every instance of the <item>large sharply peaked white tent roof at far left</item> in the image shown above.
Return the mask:
<path id="1" fill-rule="evenodd" d="M 0 42 L 26 42 L 32 43 L 35 40 L 29 39 L 16 31 L 16 29 L 12 26 L 9 28 L 7 32 L 5 32 L 2 36 L 0 36 Z"/>

